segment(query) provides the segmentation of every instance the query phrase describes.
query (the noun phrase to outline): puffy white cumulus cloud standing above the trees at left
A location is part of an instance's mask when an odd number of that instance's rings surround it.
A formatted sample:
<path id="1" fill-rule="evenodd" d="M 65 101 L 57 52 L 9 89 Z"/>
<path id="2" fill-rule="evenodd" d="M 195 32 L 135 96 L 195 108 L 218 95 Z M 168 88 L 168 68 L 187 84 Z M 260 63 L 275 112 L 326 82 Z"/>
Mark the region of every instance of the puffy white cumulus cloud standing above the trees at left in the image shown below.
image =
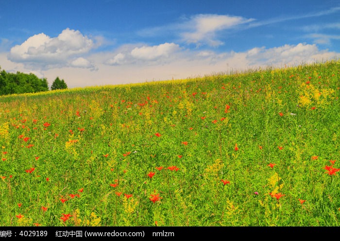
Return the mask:
<path id="1" fill-rule="evenodd" d="M 21 45 L 11 48 L 8 59 L 42 68 L 67 66 L 74 61 L 80 64 L 81 60 L 76 59 L 92 48 L 94 48 L 93 40 L 79 31 L 67 28 L 53 38 L 44 33 L 35 34 Z"/>

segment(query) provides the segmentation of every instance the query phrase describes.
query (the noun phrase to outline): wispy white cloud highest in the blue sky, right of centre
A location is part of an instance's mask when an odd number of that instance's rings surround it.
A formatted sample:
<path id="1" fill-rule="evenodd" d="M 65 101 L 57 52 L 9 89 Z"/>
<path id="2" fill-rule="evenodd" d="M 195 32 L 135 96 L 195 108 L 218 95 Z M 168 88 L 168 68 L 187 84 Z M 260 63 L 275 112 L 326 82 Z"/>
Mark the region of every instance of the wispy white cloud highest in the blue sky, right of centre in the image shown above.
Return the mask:
<path id="1" fill-rule="evenodd" d="M 183 41 L 189 44 L 199 46 L 204 43 L 217 47 L 223 44 L 223 42 L 216 37 L 217 32 L 232 29 L 253 20 L 254 19 L 247 19 L 240 16 L 196 15 L 184 24 L 187 31 L 182 32 L 181 35 Z"/>

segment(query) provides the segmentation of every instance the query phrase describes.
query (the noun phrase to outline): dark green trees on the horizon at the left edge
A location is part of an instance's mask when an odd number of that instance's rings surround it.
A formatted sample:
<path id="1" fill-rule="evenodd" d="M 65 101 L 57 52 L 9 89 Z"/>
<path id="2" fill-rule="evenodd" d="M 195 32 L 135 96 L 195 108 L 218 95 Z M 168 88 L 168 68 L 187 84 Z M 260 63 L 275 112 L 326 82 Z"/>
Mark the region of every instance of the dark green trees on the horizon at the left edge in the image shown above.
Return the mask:
<path id="1" fill-rule="evenodd" d="M 60 80 L 59 77 L 57 77 L 51 85 L 51 90 L 67 88 L 68 86 L 65 80 Z M 39 79 L 33 73 L 25 74 L 19 71 L 17 73 L 9 73 L 5 70 L 0 71 L 0 96 L 49 90 L 49 84 L 46 78 Z"/>

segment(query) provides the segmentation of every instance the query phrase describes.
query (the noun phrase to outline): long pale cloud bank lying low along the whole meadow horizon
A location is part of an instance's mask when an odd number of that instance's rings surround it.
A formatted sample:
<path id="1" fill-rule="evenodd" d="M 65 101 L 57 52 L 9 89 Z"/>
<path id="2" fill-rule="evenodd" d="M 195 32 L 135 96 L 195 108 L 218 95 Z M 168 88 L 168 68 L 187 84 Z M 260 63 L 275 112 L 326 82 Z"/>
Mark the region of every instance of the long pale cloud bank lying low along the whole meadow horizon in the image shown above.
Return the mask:
<path id="1" fill-rule="evenodd" d="M 133 49 L 135 57 L 131 54 Z M 167 61 L 164 62 L 163 58 Z M 340 58 L 340 53 L 322 50 L 315 44 L 305 43 L 221 53 L 211 50 L 180 49 L 175 44 L 144 47 L 129 45 L 122 46 L 115 53 L 99 52 L 87 58 L 75 58 L 68 66 L 41 70 L 39 76 L 44 76 L 49 82 L 59 76 L 67 82 L 69 88 L 73 88 L 172 78 L 186 79 L 266 66 L 295 66 L 335 58 Z M 107 60 L 112 60 L 111 65 L 105 62 Z M 0 63 L 5 70 L 28 72 L 23 64 L 8 61 L 4 53 L 0 53 Z M 96 72 L 91 71 L 94 64 L 98 68 Z M 32 71 L 34 69 L 30 70 Z"/>

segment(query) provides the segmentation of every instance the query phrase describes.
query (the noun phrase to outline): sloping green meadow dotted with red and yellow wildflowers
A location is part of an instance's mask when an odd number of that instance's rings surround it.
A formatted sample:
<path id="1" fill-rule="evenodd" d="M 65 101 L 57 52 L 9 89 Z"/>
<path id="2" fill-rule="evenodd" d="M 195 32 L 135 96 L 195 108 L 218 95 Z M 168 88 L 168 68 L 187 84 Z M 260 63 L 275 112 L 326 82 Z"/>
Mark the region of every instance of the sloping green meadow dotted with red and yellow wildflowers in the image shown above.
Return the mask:
<path id="1" fill-rule="evenodd" d="M 0 96 L 0 226 L 339 226 L 340 62 Z"/>

